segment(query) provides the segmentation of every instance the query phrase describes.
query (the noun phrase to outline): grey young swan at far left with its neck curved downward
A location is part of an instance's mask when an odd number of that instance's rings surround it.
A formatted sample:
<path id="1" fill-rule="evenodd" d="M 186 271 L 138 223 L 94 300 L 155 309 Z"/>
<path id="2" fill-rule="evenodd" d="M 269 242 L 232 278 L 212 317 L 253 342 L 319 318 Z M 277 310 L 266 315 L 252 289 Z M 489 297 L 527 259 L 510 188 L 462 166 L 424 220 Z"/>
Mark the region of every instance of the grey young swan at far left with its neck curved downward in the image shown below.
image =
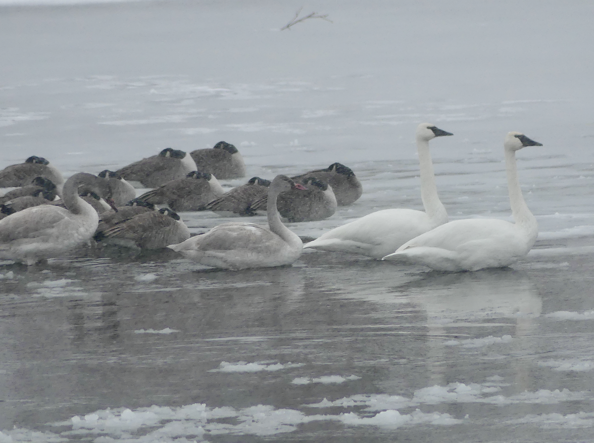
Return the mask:
<path id="1" fill-rule="evenodd" d="M 0 220 L 0 258 L 32 265 L 89 241 L 97 229 L 99 216 L 78 196 L 82 185 L 110 197 L 105 180 L 84 172 L 71 176 L 64 183 L 62 193 L 66 208 L 41 205 Z"/>

